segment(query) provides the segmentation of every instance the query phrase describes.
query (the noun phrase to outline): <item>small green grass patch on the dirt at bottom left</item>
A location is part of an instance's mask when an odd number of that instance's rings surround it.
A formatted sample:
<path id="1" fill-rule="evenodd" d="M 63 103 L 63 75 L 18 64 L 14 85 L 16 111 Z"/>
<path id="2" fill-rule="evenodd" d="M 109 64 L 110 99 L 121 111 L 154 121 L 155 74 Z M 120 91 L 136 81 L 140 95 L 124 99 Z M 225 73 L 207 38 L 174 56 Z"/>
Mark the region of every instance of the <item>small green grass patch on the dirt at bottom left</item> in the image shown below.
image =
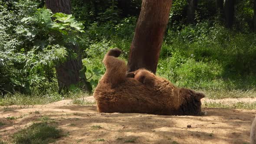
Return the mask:
<path id="1" fill-rule="evenodd" d="M 16 129 L 17 132 L 13 134 L 13 142 L 17 144 L 48 144 L 62 136 L 62 130 L 57 125 L 49 125 L 46 122 L 34 123 Z"/>

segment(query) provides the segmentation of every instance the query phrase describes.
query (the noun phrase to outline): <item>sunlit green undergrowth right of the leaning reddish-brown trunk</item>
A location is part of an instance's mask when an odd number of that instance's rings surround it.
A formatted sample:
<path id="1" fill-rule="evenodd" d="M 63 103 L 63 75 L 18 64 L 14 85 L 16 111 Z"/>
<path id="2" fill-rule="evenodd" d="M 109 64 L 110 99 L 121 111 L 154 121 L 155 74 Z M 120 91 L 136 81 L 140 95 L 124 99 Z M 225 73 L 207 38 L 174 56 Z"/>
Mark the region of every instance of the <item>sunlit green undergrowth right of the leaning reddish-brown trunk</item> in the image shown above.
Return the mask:
<path id="1" fill-rule="evenodd" d="M 250 89 L 256 82 L 256 35 L 237 33 L 218 24 L 198 23 L 169 29 L 158 73 L 180 86 Z"/>

